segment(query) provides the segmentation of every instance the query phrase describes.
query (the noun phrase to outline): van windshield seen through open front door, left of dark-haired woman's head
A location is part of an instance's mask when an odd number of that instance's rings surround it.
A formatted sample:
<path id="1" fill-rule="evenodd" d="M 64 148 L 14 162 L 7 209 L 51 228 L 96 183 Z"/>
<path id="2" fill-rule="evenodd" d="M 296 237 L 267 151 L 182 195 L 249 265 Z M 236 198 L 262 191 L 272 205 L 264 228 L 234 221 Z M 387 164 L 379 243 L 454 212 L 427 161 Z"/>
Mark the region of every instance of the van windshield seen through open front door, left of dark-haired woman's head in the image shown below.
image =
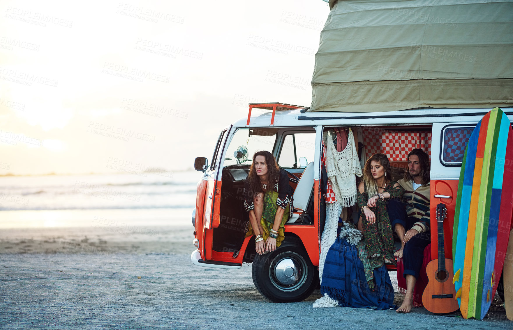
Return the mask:
<path id="1" fill-rule="evenodd" d="M 277 137 L 276 128 L 239 128 L 226 149 L 223 167 L 251 164 L 253 154 L 266 150 L 272 153 Z"/>

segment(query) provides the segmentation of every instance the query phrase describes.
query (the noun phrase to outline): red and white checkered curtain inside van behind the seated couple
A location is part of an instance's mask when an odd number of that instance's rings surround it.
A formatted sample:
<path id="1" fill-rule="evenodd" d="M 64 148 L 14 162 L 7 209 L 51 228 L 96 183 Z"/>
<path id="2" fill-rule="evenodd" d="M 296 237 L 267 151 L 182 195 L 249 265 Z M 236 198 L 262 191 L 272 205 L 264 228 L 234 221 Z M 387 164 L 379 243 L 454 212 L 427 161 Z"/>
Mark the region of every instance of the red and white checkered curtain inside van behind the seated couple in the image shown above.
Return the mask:
<path id="1" fill-rule="evenodd" d="M 377 127 L 363 129 L 365 156 L 384 153 L 390 162 L 406 161 L 408 153 L 415 148 L 427 151 L 431 158 L 431 131 L 386 130 Z"/>

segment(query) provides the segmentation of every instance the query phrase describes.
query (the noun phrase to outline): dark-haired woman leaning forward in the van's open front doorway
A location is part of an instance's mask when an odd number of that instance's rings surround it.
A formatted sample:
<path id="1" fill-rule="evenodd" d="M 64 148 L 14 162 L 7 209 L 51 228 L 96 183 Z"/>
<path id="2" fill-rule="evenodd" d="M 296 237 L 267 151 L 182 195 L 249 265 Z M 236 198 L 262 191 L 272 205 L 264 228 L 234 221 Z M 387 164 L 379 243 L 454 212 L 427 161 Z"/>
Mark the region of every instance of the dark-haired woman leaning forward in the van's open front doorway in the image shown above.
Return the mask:
<path id="1" fill-rule="evenodd" d="M 269 151 L 258 151 L 244 183 L 244 207 L 249 214 L 246 237 L 255 235 L 258 254 L 274 251 L 285 238 L 285 223 L 293 212 L 287 172 Z"/>

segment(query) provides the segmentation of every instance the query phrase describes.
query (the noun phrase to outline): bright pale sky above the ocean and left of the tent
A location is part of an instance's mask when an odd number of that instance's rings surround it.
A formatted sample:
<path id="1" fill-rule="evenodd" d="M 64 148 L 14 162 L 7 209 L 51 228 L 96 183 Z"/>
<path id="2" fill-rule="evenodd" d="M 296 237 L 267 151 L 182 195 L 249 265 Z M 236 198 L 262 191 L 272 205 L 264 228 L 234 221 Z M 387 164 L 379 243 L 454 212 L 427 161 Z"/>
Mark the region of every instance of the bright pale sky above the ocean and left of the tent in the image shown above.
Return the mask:
<path id="1" fill-rule="evenodd" d="M 0 174 L 171 171 L 247 104 L 310 105 L 321 0 L 4 1 Z"/>

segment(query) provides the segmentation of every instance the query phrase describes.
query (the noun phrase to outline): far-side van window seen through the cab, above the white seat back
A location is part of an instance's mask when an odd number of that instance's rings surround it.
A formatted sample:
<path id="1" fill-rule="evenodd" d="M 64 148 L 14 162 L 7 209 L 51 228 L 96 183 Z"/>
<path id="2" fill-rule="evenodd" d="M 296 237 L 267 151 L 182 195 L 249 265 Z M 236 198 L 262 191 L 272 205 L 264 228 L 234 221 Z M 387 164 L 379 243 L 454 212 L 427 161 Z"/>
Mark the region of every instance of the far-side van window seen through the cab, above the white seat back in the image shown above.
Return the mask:
<path id="1" fill-rule="evenodd" d="M 278 157 L 278 165 L 283 168 L 305 168 L 313 161 L 314 151 L 315 131 L 286 135 Z"/>

